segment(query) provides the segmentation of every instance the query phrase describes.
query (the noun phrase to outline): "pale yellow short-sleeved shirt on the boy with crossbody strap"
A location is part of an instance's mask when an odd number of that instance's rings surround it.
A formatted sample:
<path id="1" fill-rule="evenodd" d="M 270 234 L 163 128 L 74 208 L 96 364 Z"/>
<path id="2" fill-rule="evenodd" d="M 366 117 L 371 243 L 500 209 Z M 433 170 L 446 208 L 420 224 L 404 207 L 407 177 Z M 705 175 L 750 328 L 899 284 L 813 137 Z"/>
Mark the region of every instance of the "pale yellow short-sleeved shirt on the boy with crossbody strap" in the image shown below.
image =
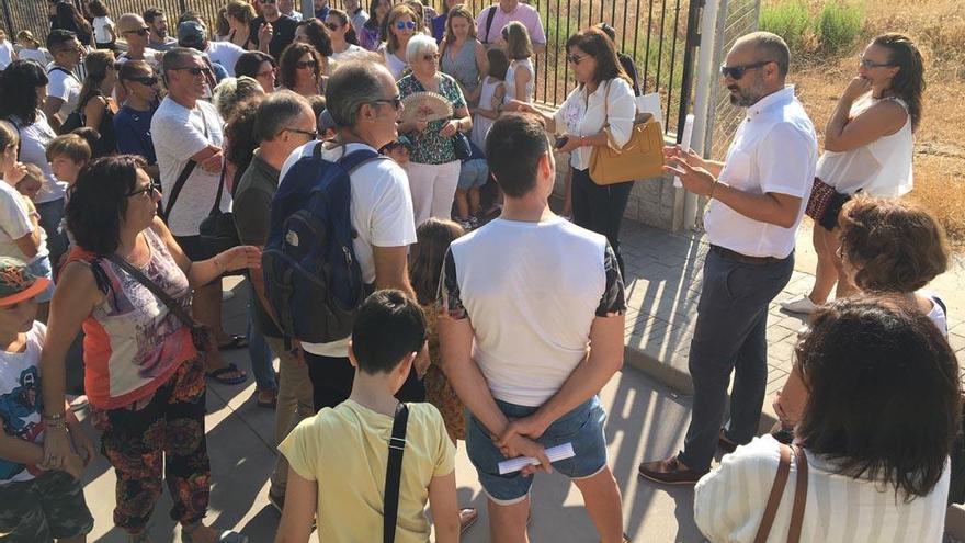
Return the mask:
<path id="1" fill-rule="evenodd" d="M 455 470 L 455 445 L 430 404 L 408 404 L 396 542 L 425 543 L 429 484 Z M 354 400 L 303 420 L 279 445 L 302 478 L 318 485 L 319 541 L 382 541 L 385 466 L 393 417 Z"/>

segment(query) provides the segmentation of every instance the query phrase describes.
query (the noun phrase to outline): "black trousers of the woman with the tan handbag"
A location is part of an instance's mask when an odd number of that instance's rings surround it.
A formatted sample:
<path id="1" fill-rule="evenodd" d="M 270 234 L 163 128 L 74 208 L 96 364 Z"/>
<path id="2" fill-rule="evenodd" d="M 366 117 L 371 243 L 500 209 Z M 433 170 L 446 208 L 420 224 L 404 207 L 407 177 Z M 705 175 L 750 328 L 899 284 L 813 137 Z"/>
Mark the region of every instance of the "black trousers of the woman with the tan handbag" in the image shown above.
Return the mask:
<path id="1" fill-rule="evenodd" d="M 574 223 L 606 236 L 616 254 L 620 274 L 626 281 L 623 256 L 620 253 L 620 225 L 629 200 L 633 181 L 601 186 L 590 179 L 590 170 L 572 169 Z"/>

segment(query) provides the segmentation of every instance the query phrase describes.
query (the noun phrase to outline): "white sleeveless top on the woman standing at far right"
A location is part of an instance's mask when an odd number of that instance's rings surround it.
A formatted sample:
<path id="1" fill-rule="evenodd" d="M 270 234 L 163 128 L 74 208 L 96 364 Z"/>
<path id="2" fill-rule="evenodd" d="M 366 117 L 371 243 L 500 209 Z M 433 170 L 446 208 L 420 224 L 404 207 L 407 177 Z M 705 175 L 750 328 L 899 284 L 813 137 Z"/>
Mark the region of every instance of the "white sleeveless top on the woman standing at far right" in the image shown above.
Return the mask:
<path id="1" fill-rule="evenodd" d="M 908 104 L 898 98 L 867 97 L 851 106 L 852 118 L 881 102 L 894 100 L 905 111 Z M 905 125 L 890 136 L 850 151 L 825 151 L 818 160 L 816 176 L 842 194 L 859 190 L 875 197 L 898 197 L 911 191 L 911 115 Z"/>

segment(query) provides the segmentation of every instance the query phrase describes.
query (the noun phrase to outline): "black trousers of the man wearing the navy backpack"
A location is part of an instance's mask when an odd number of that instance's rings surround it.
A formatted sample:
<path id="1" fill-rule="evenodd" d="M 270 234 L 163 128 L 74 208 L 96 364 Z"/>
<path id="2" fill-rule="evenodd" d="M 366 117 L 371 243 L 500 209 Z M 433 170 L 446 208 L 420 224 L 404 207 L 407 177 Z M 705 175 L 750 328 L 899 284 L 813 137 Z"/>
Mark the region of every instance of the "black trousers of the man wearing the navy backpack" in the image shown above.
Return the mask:
<path id="1" fill-rule="evenodd" d="M 308 378 L 311 381 L 311 398 L 315 412 L 322 407 L 334 407 L 349 399 L 352 393 L 352 381 L 355 378 L 355 369 L 352 367 L 348 358 L 321 357 L 305 351 L 305 362 L 308 364 Z M 415 367 L 409 372 L 409 377 L 396 393 L 399 401 L 425 401 L 425 387 L 416 376 Z"/>

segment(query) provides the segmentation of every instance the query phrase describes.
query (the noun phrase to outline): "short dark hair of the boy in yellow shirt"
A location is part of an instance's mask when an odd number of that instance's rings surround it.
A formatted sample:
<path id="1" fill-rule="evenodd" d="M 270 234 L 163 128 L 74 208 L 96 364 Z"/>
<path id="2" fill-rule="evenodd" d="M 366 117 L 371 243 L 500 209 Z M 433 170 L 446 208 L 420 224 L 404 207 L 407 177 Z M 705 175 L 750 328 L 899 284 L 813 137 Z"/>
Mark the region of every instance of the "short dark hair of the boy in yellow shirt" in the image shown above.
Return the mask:
<path id="1" fill-rule="evenodd" d="M 365 298 L 352 327 L 352 352 L 359 370 L 388 373 L 425 341 L 422 308 L 401 291 L 386 289 Z"/>

